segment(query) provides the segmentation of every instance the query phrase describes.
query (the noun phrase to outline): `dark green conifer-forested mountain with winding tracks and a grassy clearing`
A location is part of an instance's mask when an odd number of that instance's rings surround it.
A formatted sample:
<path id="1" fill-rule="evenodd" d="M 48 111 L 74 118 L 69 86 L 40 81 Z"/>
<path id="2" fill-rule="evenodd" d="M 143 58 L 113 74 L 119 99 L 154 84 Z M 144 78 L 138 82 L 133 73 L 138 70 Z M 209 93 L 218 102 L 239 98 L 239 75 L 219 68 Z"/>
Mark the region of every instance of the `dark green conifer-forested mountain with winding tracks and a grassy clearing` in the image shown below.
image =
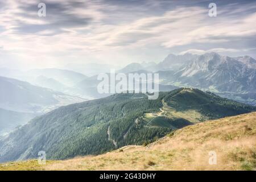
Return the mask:
<path id="1" fill-rule="evenodd" d="M 49 159 L 102 154 L 154 141 L 192 123 L 253 110 L 197 89 L 163 92 L 158 100 L 148 100 L 144 94 L 114 94 L 32 119 L 0 140 L 0 161 L 34 158 L 41 150 Z"/>

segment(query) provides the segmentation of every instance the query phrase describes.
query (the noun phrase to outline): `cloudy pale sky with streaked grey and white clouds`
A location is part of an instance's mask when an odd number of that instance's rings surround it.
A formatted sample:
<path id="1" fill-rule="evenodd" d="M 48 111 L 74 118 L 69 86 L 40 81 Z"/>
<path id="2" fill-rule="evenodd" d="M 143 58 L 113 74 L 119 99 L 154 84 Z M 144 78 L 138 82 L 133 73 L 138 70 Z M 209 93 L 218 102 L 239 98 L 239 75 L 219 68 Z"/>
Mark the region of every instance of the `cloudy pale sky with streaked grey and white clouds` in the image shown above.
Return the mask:
<path id="1" fill-rule="evenodd" d="M 0 67 L 120 67 L 186 52 L 256 58 L 255 22 L 256 1 L 0 0 Z"/>

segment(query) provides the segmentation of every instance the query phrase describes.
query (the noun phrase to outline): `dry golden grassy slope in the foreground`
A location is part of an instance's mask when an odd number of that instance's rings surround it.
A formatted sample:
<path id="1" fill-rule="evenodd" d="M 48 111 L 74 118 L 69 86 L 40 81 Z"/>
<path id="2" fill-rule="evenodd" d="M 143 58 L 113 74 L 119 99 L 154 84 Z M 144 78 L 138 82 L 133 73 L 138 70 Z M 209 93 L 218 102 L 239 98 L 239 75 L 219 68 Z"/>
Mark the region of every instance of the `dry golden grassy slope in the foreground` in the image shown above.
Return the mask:
<path id="1" fill-rule="evenodd" d="M 157 142 L 126 146 L 104 155 L 0 164 L 0 170 L 253 170 L 256 169 L 256 112 L 187 126 Z M 209 151 L 217 164 L 209 165 Z"/>

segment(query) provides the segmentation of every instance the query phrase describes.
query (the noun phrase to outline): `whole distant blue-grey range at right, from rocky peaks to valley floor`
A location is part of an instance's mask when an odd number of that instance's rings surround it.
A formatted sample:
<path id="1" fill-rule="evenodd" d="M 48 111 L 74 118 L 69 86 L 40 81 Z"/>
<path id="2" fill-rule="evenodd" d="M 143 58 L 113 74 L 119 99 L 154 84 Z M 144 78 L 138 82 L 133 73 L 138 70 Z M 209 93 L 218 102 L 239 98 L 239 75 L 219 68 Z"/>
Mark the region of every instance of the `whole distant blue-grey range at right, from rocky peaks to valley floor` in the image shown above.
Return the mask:
<path id="1" fill-rule="evenodd" d="M 160 84 L 209 90 L 233 100 L 256 105 L 256 60 L 250 56 L 229 57 L 211 52 L 203 55 L 170 54 L 154 67 L 141 69 L 159 73 Z M 126 68 L 131 67 L 127 65 Z M 137 68 L 137 70 L 135 70 Z"/>

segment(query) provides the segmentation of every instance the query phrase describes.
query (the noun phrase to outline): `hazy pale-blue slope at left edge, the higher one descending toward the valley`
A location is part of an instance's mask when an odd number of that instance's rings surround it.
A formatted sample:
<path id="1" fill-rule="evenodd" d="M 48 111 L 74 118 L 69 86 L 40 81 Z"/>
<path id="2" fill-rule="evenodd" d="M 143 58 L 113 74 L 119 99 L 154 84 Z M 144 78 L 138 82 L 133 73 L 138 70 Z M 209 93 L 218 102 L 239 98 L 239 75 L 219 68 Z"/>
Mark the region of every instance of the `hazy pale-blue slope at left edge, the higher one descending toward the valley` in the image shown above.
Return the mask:
<path id="1" fill-rule="evenodd" d="M 0 77 L 0 108 L 24 113 L 44 112 L 61 105 L 84 101 L 61 92 Z"/>

